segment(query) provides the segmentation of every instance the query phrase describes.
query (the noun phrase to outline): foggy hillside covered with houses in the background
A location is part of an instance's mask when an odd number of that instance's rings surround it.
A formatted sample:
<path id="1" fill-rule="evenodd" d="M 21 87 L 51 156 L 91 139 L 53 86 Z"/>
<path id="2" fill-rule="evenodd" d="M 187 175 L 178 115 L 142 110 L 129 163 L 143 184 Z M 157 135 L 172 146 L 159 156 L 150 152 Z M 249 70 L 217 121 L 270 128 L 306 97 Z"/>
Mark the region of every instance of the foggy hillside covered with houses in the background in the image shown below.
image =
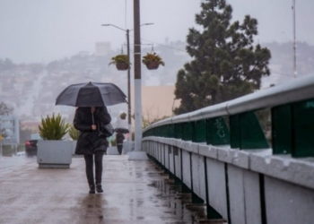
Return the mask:
<path id="1" fill-rule="evenodd" d="M 190 60 L 184 51 L 183 42 L 171 42 L 168 45 L 154 47 L 154 51 L 162 56 L 166 64 L 164 67 L 149 71 L 142 66 L 143 86 L 174 86 L 179 69 Z M 272 59 L 269 65 L 271 75 L 263 78 L 263 88 L 292 80 L 292 43 L 268 43 L 265 46 L 271 50 Z M 151 51 L 151 47 L 143 48 L 142 55 Z M 60 113 L 72 122 L 74 108 L 55 106 L 57 95 L 66 86 L 80 82 L 114 82 L 127 94 L 126 72 L 109 65 L 110 58 L 118 54 L 119 50 L 111 49 L 103 54 L 97 54 L 97 51 L 93 54 L 80 52 L 47 65 L 18 65 L 10 59 L 0 58 L 0 101 L 14 108 L 23 127 L 36 128 L 41 116 L 52 113 Z M 298 75 L 314 74 L 314 47 L 299 43 L 297 58 Z M 133 79 L 131 70 L 131 84 Z M 109 110 L 116 117 L 126 111 L 126 105 L 110 107 Z"/>

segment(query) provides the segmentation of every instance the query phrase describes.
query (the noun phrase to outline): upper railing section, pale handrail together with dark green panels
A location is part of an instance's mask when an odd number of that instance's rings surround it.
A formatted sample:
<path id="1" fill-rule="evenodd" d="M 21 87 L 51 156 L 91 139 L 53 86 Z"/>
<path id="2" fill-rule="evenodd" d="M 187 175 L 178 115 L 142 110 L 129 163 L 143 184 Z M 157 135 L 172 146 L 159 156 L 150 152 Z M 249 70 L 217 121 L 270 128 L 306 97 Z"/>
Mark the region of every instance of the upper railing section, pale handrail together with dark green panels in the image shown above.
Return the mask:
<path id="1" fill-rule="evenodd" d="M 262 109 L 269 109 L 269 136 L 257 119 L 256 112 Z M 310 75 L 239 99 L 169 117 L 145 128 L 144 137 L 230 145 L 231 149 L 240 150 L 272 148 L 273 154 L 312 157 L 313 115 L 314 76 Z"/>

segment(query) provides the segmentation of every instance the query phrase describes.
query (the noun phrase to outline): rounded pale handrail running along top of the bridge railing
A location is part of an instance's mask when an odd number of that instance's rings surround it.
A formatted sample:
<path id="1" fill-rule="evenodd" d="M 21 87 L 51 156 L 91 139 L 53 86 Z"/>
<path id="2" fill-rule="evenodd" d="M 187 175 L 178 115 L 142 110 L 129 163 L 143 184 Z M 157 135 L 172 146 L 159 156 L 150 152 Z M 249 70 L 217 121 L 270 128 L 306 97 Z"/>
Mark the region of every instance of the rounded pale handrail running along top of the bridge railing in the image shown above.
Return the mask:
<path id="1" fill-rule="evenodd" d="M 170 125 L 182 122 L 196 121 L 216 116 L 231 116 L 262 108 L 273 108 L 305 99 L 314 98 L 314 75 L 300 77 L 292 82 L 286 82 L 266 90 L 248 94 L 238 99 L 232 99 L 214 106 L 201 108 L 196 111 L 171 116 L 152 125 L 147 126 L 147 131 L 156 126 Z"/>

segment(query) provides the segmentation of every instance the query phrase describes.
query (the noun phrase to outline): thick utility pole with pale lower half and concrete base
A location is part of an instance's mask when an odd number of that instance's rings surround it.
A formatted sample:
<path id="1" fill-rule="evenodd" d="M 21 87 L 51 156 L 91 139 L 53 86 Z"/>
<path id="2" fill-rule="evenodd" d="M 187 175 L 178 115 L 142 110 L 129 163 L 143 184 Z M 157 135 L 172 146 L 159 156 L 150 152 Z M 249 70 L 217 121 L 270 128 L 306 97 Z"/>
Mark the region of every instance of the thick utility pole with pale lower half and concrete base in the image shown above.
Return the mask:
<path id="1" fill-rule="evenodd" d="M 134 0 L 134 73 L 135 73 L 135 151 L 128 159 L 148 159 L 142 151 L 142 81 L 140 0 Z"/>

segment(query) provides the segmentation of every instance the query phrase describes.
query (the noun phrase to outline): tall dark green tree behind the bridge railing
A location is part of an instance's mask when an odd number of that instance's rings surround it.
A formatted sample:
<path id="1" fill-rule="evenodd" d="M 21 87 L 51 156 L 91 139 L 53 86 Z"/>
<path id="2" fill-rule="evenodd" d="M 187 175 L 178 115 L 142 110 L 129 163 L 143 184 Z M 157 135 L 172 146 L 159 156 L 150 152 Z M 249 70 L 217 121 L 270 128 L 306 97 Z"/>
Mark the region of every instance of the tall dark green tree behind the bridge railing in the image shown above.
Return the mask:
<path id="1" fill-rule="evenodd" d="M 231 23 L 232 7 L 226 0 L 205 0 L 196 14 L 199 31 L 189 29 L 187 51 L 192 61 L 177 74 L 175 114 L 235 99 L 258 90 L 269 75 L 270 51 L 254 46 L 257 20 L 249 15 Z"/>

